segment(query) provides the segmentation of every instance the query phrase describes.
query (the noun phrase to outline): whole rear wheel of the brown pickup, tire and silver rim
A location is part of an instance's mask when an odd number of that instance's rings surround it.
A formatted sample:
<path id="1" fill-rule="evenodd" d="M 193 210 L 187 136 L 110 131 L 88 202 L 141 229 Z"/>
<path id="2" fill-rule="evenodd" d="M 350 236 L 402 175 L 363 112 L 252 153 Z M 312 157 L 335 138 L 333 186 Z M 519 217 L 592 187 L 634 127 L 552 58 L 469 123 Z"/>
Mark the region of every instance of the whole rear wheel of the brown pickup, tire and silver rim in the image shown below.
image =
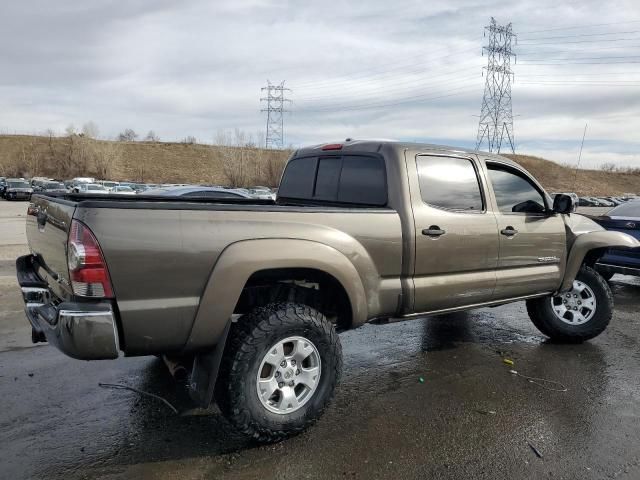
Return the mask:
<path id="1" fill-rule="evenodd" d="M 322 415 L 341 368 L 340 340 L 324 315 L 301 304 L 268 305 L 232 326 L 216 400 L 244 434 L 278 441 Z"/>

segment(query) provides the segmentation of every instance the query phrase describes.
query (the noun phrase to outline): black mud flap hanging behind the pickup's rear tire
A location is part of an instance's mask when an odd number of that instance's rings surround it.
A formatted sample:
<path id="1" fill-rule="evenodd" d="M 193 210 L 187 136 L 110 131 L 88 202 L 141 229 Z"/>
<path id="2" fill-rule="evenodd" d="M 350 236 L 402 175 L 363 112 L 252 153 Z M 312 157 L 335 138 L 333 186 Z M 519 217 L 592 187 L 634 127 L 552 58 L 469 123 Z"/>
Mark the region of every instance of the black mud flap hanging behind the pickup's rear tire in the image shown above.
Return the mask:
<path id="1" fill-rule="evenodd" d="M 208 408 L 213 400 L 213 389 L 218 379 L 218 371 L 231 323 L 231 320 L 227 322 L 222 336 L 213 350 L 198 354 L 193 359 L 193 369 L 189 379 L 189 396 L 201 408 Z"/>

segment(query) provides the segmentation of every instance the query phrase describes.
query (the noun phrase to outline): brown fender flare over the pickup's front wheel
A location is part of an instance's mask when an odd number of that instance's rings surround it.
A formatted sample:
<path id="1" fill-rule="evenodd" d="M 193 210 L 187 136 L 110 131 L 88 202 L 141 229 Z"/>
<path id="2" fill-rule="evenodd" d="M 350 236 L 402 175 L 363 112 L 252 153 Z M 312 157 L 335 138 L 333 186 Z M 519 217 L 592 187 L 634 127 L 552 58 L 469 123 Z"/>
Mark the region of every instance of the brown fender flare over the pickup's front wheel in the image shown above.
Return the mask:
<path id="1" fill-rule="evenodd" d="M 578 275 L 585 256 L 591 250 L 609 247 L 640 248 L 640 242 L 626 233 L 607 230 L 578 235 L 571 246 L 567 260 L 567 268 L 565 269 L 559 291 L 564 292 L 571 289 L 573 280 L 576 278 L 576 275 Z"/>

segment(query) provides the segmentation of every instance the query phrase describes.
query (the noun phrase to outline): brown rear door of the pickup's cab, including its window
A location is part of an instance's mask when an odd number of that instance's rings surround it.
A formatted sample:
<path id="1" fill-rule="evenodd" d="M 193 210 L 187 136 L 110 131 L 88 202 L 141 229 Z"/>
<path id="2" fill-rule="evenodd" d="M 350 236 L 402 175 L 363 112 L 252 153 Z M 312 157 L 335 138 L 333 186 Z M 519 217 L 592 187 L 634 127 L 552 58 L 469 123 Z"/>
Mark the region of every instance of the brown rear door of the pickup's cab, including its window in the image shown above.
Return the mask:
<path id="1" fill-rule="evenodd" d="M 406 157 L 415 222 L 414 312 L 491 300 L 498 227 L 475 157 Z M 413 163 L 413 165 L 412 165 Z"/>

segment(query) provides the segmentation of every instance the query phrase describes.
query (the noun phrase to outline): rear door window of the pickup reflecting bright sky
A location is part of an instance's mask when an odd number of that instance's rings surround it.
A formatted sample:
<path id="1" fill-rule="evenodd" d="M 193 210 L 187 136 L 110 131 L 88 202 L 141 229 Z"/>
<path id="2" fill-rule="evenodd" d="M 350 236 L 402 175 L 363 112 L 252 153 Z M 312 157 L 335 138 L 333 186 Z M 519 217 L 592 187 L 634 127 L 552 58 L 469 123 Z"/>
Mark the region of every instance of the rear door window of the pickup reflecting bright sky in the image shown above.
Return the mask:
<path id="1" fill-rule="evenodd" d="M 478 174 L 471 160 L 418 155 L 416 162 L 425 203 L 449 210 L 484 210 Z"/>

